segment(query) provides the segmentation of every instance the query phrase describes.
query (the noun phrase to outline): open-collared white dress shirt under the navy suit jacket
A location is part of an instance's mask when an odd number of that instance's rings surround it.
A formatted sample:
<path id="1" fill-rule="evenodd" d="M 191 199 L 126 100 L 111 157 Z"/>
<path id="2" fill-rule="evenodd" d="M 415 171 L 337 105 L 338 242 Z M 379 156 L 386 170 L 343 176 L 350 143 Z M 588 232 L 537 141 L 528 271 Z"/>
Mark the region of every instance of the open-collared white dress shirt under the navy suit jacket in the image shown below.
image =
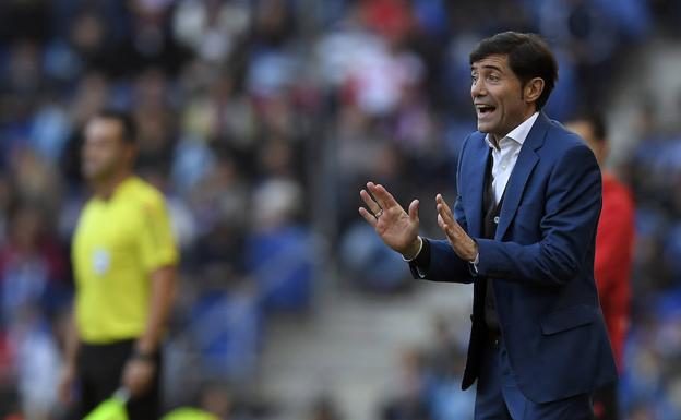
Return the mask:
<path id="1" fill-rule="evenodd" d="M 499 149 L 494 147 L 491 134 L 485 136 L 485 141 L 492 149 L 492 189 L 494 190 L 495 203 L 499 203 L 506 189 L 506 183 L 509 183 L 511 172 L 513 172 L 517 157 L 521 154 L 523 143 L 525 143 L 525 139 L 527 139 L 527 134 L 529 134 L 529 130 L 537 121 L 538 116 L 539 112 L 533 113 L 531 117 L 501 139 L 499 141 Z"/>

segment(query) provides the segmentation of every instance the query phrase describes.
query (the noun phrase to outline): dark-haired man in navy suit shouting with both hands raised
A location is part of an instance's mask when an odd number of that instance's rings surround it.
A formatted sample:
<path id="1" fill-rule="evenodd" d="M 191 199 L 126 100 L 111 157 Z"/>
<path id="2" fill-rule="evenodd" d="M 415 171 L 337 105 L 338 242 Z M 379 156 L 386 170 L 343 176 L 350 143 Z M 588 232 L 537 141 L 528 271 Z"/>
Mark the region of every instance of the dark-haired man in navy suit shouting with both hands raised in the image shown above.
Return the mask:
<path id="1" fill-rule="evenodd" d="M 446 240 L 418 235 L 383 185 L 359 213 L 416 278 L 474 284 L 462 387 L 475 418 L 593 418 L 592 393 L 617 380 L 594 281 L 601 179 L 590 149 L 541 112 L 558 79 L 546 43 L 506 32 L 470 53 L 477 132 L 462 146 L 456 203 L 435 197 Z"/>

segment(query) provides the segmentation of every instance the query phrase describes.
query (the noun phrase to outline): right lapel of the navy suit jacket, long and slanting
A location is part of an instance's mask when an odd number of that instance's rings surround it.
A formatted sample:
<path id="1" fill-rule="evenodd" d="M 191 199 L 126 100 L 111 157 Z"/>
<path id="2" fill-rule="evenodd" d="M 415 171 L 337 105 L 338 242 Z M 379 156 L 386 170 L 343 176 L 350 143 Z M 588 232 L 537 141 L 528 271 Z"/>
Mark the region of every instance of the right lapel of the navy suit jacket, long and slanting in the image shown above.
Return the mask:
<path id="1" fill-rule="evenodd" d="M 539 112 L 535 124 L 527 135 L 527 139 L 525 139 L 518 159 L 515 163 L 515 167 L 513 168 L 511 178 L 509 178 L 509 183 L 506 184 L 504 202 L 501 206 L 501 214 L 499 216 L 499 226 L 497 227 L 497 235 L 494 236 L 494 239 L 497 240 L 501 240 L 505 235 L 506 229 L 509 229 L 509 226 L 511 226 L 511 221 L 515 216 L 521 197 L 523 196 L 523 191 L 525 191 L 527 179 L 539 161 L 539 156 L 536 151 L 543 145 L 545 135 L 549 124 L 550 121 L 547 116 L 543 112 Z"/>

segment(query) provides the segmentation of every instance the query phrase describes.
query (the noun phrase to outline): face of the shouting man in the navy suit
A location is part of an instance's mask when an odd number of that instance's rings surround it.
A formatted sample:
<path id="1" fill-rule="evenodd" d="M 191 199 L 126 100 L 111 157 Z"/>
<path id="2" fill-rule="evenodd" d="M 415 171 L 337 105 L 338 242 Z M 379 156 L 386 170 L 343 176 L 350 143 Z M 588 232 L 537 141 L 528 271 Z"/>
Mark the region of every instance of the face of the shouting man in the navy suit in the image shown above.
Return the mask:
<path id="1" fill-rule="evenodd" d="M 492 55 L 474 62 L 470 76 L 479 131 L 501 139 L 534 111 L 533 103 L 523 98 L 523 86 L 509 67 L 507 56 Z"/>

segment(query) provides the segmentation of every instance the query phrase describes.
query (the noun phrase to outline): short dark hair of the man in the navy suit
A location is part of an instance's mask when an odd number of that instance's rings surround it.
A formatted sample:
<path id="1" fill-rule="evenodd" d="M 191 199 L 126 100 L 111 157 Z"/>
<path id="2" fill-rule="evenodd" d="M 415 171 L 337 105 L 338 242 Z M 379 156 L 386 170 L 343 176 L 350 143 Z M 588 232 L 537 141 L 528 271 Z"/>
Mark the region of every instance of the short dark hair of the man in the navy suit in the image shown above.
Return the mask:
<path id="1" fill-rule="evenodd" d="M 502 32 L 477 45 L 470 52 L 470 64 L 492 55 L 507 56 L 509 67 L 523 86 L 534 77 L 543 79 L 543 91 L 536 101 L 541 109 L 558 81 L 558 62 L 547 43 L 537 34 Z"/>

